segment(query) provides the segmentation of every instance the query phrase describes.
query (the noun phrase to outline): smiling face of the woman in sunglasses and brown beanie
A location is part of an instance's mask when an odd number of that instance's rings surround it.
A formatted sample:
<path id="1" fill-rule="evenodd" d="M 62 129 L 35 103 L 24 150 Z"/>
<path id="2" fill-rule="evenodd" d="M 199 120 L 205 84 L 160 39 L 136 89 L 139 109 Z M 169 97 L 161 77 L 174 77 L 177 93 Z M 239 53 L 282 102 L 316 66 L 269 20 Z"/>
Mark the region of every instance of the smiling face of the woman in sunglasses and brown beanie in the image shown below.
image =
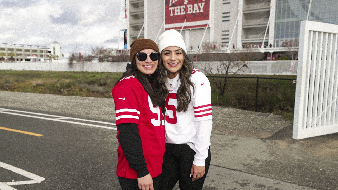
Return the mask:
<path id="1" fill-rule="evenodd" d="M 150 54 L 152 52 L 156 52 L 155 50 L 153 49 L 144 49 L 144 50 L 141 50 L 139 52 L 143 52 L 143 53 L 146 53 L 146 54 Z M 151 75 L 152 73 L 155 72 L 156 68 L 157 68 L 157 65 L 159 63 L 159 60 L 156 60 L 156 61 L 152 61 L 149 57 L 149 55 L 147 55 L 147 59 L 145 61 L 139 61 L 139 59 L 137 58 L 137 56 L 135 55 L 135 60 L 136 60 L 136 66 L 137 68 L 144 74 L 147 74 L 147 75 Z"/>

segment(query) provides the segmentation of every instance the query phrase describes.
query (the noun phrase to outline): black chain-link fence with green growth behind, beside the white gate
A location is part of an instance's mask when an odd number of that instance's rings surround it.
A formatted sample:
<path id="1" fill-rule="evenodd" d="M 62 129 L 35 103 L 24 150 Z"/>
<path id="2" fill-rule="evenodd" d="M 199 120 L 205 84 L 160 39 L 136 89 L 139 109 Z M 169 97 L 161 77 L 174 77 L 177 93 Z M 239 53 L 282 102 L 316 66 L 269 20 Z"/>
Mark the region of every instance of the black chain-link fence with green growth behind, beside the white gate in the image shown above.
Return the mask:
<path id="1" fill-rule="evenodd" d="M 214 105 L 266 113 L 292 113 L 295 99 L 295 78 L 290 76 L 207 76 Z M 226 78 L 226 79 L 225 79 Z M 219 86 L 225 85 L 221 95 Z M 217 87 L 218 86 L 218 87 Z"/>

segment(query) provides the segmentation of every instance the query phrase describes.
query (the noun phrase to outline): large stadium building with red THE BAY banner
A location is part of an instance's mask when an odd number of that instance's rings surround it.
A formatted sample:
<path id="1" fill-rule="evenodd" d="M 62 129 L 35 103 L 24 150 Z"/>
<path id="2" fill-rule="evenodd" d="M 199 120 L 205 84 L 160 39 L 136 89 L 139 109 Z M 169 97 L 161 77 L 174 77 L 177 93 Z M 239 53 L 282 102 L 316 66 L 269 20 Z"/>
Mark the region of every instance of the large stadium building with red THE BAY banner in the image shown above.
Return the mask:
<path id="1" fill-rule="evenodd" d="M 125 0 L 126 42 L 158 42 L 167 29 L 183 35 L 187 49 L 288 51 L 297 47 L 302 20 L 338 24 L 336 0 Z M 182 31 L 181 31 L 182 30 Z"/>

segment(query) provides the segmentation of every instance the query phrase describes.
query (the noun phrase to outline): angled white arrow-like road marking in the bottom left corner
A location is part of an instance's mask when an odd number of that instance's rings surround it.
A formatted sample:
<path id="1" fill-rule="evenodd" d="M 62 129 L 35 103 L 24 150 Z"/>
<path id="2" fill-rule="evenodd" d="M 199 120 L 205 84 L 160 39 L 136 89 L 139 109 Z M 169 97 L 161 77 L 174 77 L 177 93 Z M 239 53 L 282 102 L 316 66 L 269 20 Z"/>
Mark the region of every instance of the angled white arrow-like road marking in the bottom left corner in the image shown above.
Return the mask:
<path id="1" fill-rule="evenodd" d="M 25 171 L 23 169 L 14 167 L 12 165 L 0 162 L 0 167 L 5 168 L 7 170 L 13 171 L 17 174 L 23 175 L 25 177 L 28 177 L 31 180 L 28 181 L 17 181 L 17 182 L 0 182 L 0 190 L 17 190 L 13 187 L 10 187 L 10 185 L 25 185 L 25 184 L 36 184 L 41 183 L 42 181 L 46 180 L 43 177 L 40 177 L 39 175 L 35 175 L 33 173 L 30 173 L 28 171 Z"/>

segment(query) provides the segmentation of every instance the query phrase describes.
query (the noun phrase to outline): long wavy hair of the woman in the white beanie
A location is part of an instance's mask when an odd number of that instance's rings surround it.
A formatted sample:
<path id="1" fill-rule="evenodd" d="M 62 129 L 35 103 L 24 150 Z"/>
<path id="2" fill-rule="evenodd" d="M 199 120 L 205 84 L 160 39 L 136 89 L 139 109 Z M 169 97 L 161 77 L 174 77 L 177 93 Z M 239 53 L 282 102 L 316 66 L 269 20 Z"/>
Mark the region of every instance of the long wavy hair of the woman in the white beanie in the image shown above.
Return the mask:
<path id="1" fill-rule="evenodd" d="M 190 76 L 192 73 L 192 67 L 193 64 L 189 60 L 188 55 L 186 52 L 183 52 L 183 66 L 179 70 L 179 80 L 181 82 L 180 86 L 178 87 L 177 90 L 177 112 L 184 111 L 186 112 L 188 109 L 188 104 L 191 102 L 191 97 L 192 97 L 192 92 L 190 90 L 190 86 L 193 89 L 193 93 L 195 93 L 195 87 L 194 84 L 190 80 Z M 165 73 L 166 68 L 163 65 L 163 60 L 162 60 L 162 54 L 163 51 L 161 52 L 160 59 L 159 59 L 159 72 L 155 75 L 155 80 L 153 84 L 156 84 L 156 88 L 159 91 L 159 99 L 163 102 L 165 102 L 166 98 L 168 97 L 169 90 L 166 87 L 166 79 L 167 75 Z"/>

